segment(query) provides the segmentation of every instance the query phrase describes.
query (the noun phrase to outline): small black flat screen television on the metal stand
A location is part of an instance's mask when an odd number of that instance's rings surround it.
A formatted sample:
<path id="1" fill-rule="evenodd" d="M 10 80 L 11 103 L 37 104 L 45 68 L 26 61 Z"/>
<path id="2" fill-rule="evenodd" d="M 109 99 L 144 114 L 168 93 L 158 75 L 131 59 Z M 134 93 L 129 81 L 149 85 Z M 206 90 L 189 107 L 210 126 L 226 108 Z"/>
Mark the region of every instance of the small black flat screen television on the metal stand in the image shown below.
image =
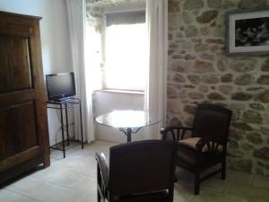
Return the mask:
<path id="1" fill-rule="evenodd" d="M 74 73 L 46 75 L 48 101 L 65 100 L 75 95 Z"/>

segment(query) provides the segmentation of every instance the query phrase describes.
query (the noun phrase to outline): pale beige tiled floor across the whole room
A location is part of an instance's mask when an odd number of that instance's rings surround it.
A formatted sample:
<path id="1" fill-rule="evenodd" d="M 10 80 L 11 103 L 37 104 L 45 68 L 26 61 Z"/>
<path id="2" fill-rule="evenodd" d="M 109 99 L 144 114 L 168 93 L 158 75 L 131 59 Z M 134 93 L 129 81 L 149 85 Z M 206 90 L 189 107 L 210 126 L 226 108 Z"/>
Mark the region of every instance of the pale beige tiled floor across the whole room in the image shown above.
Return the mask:
<path id="1" fill-rule="evenodd" d="M 51 166 L 35 171 L 0 189 L 0 202 L 96 202 L 96 162 L 94 153 L 104 152 L 113 143 L 96 141 L 69 149 L 66 158 L 56 151 Z M 269 179 L 228 170 L 227 180 L 218 176 L 201 184 L 201 193 L 193 194 L 193 176 L 177 170 L 174 201 L 177 202 L 268 202 Z M 153 202 L 153 201 L 152 201 Z"/>

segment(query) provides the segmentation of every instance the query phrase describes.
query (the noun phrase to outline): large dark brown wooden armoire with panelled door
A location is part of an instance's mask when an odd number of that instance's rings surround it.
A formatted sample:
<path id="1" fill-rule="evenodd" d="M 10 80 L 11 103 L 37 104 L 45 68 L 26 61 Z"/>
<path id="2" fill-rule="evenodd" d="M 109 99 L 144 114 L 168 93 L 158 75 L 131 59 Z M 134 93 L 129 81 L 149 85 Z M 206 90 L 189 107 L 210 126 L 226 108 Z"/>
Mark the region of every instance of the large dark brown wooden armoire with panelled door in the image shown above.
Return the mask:
<path id="1" fill-rule="evenodd" d="M 0 12 L 0 184 L 50 163 L 40 19 Z"/>

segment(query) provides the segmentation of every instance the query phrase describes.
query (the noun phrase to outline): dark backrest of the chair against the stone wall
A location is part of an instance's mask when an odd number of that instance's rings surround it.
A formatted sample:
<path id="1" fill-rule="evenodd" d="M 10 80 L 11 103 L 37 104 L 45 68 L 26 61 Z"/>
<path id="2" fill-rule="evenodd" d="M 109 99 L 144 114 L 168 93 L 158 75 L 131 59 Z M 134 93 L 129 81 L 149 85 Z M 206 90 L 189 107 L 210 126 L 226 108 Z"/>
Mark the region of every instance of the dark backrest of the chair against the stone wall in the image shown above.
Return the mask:
<path id="1" fill-rule="evenodd" d="M 199 104 L 195 112 L 193 136 L 228 137 L 232 111 L 215 104 Z"/>

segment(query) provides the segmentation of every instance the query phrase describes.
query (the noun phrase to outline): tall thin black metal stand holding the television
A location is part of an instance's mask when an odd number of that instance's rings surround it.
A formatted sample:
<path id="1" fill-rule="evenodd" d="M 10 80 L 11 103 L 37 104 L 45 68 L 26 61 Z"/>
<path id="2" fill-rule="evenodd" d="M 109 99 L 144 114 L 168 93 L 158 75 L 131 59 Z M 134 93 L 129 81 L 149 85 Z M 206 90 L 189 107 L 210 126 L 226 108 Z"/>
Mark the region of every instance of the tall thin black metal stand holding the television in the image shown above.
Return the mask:
<path id="1" fill-rule="evenodd" d="M 68 108 L 73 108 L 74 106 L 79 106 L 80 108 L 80 119 L 81 119 L 81 144 L 82 144 L 82 149 L 84 148 L 84 143 L 83 143 L 83 129 L 82 129 L 82 104 L 81 100 L 79 98 L 74 98 L 74 97 L 68 97 L 66 99 L 61 99 L 57 101 L 47 101 L 47 108 L 48 109 L 55 109 L 55 110 L 60 110 L 60 122 L 61 122 L 61 131 L 62 131 L 62 148 L 56 148 L 54 146 L 50 146 L 51 149 L 56 149 L 63 151 L 64 158 L 65 158 L 65 128 L 64 126 L 66 125 L 66 135 L 67 135 L 67 145 L 70 145 L 70 136 L 69 136 L 69 124 L 68 124 L 68 113 L 67 109 Z M 63 117 L 63 110 L 65 110 L 65 125 L 64 125 L 64 117 Z"/>

